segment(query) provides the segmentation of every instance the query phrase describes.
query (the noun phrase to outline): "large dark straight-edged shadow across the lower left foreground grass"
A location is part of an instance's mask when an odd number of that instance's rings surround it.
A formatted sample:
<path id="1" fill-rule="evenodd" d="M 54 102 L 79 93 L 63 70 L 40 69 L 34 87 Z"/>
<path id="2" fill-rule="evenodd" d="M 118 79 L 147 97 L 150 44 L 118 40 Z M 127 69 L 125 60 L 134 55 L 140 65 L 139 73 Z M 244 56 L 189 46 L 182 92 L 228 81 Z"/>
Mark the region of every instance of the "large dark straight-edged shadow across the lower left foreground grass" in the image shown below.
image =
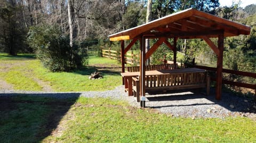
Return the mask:
<path id="1" fill-rule="evenodd" d="M 0 94 L 1 141 L 41 142 L 57 128 L 79 96 L 79 93 Z"/>

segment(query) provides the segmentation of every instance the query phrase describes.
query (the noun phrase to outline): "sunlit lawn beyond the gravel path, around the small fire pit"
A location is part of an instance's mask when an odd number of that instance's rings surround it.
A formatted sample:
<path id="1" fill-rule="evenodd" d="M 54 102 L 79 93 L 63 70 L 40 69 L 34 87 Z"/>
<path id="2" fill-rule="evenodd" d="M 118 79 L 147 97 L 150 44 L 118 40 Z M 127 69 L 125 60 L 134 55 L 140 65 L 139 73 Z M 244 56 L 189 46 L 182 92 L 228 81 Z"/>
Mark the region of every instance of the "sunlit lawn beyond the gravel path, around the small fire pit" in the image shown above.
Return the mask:
<path id="1" fill-rule="evenodd" d="M 50 86 L 53 91 L 110 90 L 122 84 L 120 66 L 116 60 L 90 57 L 89 66 L 74 72 L 49 72 L 34 55 L 9 56 L 0 54 L 0 79 L 15 90 L 41 91 Z M 94 71 L 102 72 L 103 79 L 90 80 Z"/>

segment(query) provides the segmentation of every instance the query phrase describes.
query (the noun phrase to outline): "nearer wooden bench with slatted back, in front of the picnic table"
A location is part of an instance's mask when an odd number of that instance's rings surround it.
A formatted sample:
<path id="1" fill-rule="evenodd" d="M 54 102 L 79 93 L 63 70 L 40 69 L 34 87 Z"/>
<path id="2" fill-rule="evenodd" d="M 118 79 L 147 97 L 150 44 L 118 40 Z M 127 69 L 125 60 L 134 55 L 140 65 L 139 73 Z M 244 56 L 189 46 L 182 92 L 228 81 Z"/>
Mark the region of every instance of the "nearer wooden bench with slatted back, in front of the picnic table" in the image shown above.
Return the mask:
<path id="1" fill-rule="evenodd" d="M 140 81 L 139 77 L 133 77 L 133 96 L 140 102 Z M 210 77 L 206 71 L 166 73 L 145 76 L 145 90 L 148 91 L 168 91 L 177 89 L 205 88 L 206 94 L 210 93 Z"/>

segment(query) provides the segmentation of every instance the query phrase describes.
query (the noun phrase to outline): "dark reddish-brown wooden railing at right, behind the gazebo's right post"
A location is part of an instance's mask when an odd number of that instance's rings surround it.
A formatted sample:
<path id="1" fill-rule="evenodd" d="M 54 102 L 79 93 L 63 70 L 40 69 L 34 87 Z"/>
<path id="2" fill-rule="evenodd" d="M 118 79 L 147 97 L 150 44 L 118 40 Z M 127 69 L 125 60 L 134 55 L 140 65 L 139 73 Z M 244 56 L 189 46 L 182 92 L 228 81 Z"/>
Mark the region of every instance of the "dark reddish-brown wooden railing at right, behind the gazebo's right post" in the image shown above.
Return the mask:
<path id="1" fill-rule="evenodd" d="M 217 68 L 212 68 L 212 67 L 208 67 L 208 66 L 195 65 L 194 67 L 198 68 L 198 69 L 204 69 L 204 70 L 209 70 L 209 71 L 214 71 L 214 72 L 217 71 Z M 256 73 L 252 73 L 252 72 L 235 71 L 235 70 L 228 70 L 228 69 L 223 69 L 222 72 L 229 73 L 229 74 L 235 74 L 235 75 L 242 75 L 244 77 L 251 77 L 251 78 L 256 79 Z M 216 78 L 211 77 L 211 80 L 216 81 Z M 233 85 L 233 86 L 237 86 L 237 87 L 254 89 L 255 94 L 256 94 L 256 84 L 229 81 L 229 80 L 225 80 L 225 79 L 222 79 L 222 83 L 226 84 L 226 85 Z"/>

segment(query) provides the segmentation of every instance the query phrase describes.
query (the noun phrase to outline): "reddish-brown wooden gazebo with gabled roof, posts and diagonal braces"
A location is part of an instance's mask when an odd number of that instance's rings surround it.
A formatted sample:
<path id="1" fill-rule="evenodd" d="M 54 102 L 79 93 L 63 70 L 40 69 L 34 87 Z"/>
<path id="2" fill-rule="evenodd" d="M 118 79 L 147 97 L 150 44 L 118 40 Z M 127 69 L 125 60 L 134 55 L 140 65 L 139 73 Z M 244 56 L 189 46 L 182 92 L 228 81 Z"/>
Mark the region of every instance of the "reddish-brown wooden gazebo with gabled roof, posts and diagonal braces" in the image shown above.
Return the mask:
<path id="1" fill-rule="evenodd" d="M 145 105 L 145 62 L 151 54 L 163 43 L 174 53 L 174 64 L 176 64 L 176 44 L 177 39 L 204 39 L 218 56 L 217 61 L 217 87 L 216 99 L 221 99 L 222 85 L 222 61 L 223 61 L 223 42 L 225 37 L 250 35 L 251 28 L 243 24 L 219 18 L 218 16 L 187 9 L 173 13 L 163 18 L 151 21 L 141 26 L 127 29 L 109 35 L 110 41 L 121 41 L 122 72 L 124 72 L 124 55 L 132 45 L 140 41 L 140 97 Z M 167 39 L 173 38 L 173 44 Z M 215 45 L 210 38 L 218 38 L 218 45 Z M 145 52 L 145 39 L 158 39 L 156 43 Z M 131 40 L 130 44 L 124 45 L 124 40 Z"/>

